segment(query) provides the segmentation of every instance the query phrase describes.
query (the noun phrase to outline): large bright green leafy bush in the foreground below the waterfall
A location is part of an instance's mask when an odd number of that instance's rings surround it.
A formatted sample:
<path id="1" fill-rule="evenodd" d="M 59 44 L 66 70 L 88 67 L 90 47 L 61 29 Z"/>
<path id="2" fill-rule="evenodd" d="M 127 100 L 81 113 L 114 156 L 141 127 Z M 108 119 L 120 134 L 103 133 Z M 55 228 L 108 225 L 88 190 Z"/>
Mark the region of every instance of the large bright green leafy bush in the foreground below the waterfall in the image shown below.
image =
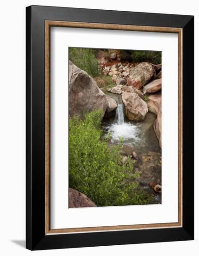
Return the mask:
<path id="1" fill-rule="evenodd" d="M 101 111 L 69 119 L 69 186 L 87 195 L 97 206 L 146 204 L 146 195 L 136 190 L 139 176 L 134 162 L 121 164 L 120 145 L 102 140 Z"/>

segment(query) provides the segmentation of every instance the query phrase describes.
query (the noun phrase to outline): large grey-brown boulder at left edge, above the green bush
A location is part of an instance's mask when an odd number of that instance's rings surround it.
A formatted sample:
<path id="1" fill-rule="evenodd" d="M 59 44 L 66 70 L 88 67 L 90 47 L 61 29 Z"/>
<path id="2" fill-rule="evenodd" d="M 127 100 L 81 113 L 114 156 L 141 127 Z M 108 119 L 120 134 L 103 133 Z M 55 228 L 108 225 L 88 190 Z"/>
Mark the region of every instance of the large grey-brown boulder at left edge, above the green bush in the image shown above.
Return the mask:
<path id="1" fill-rule="evenodd" d="M 85 112 L 101 109 L 104 116 L 107 107 L 106 95 L 96 81 L 69 61 L 69 115 L 82 118 Z"/>

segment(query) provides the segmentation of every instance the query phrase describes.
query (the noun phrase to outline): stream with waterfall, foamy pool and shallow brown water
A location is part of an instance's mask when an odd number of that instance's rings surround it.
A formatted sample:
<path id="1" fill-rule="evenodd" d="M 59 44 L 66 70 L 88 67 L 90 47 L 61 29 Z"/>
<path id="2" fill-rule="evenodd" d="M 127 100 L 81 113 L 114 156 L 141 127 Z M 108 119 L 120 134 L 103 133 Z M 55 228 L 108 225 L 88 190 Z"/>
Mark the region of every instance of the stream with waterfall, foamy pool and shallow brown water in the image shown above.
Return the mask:
<path id="1" fill-rule="evenodd" d="M 130 121 L 125 117 L 121 95 L 106 93 L 117 101 L 115 117 L 103 119 L 104 136 L 111 132 L 111 143 L 119 143 L 123 138 L 123 146 L 131 146 L 138 155 L 133 172 L 141 171 L 139 187 L 148 195 L 154 195 L 154 204 L 161 203 L 161 194 L 156 194 L 150 188 L 149 182 L 161 184 L 161 148 L 153 129 L 156 115 L 148 112 L 144 121 Z"/>

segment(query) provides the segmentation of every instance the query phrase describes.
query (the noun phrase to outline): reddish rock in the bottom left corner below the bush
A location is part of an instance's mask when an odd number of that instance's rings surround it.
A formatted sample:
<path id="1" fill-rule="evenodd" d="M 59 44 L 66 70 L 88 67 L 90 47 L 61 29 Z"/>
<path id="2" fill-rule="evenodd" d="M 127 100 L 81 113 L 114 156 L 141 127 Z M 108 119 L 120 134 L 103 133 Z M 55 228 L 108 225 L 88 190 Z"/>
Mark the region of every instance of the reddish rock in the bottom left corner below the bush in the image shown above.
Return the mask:
<path id="1" fill-rule="evenodd" d="M 96 205 L 86 195 L 69 188 L 69 208 L 78 207 L 96 207 Z"/>

